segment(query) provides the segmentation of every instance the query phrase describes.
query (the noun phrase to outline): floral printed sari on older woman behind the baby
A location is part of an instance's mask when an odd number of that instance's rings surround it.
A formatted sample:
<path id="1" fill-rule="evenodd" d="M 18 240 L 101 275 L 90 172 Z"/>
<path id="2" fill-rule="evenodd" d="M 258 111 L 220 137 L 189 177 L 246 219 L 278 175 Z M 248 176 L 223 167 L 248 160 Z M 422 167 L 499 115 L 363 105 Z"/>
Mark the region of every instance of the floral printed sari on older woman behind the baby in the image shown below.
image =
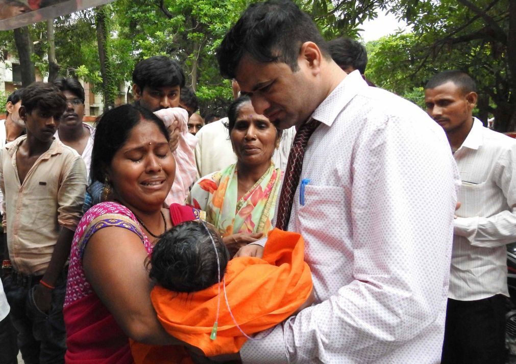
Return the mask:
<path id="1" fill-rule="evenodd" d="M 192 187 L 188 203 L 206 211 L 206 221 L 223 236 L 264 233 L 272 229 L 281 171 L 271 163 L 267 172 L 237 201 L 236 164 L 201 178 Z"/>

